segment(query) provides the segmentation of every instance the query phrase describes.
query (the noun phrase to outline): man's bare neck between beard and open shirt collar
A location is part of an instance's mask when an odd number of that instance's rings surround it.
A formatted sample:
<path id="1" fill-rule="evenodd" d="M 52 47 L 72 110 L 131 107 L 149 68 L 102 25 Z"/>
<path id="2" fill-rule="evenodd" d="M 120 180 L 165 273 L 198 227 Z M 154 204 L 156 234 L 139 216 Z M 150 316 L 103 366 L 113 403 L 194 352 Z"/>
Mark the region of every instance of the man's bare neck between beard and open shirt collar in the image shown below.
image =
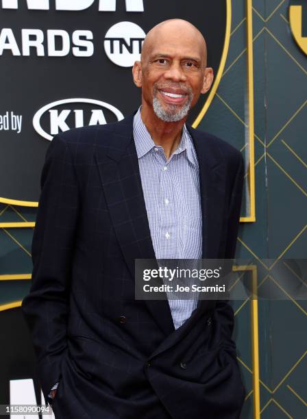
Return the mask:
<path id="1" fill-rule="evenodd" d="M 156 145 L 163 147 L 165 157 L 169 160 L 169 157 L 175 149 L 177 149 L 178 144 L 180 143 L 182 128 L 186 122 L 187 116 L 182 120 L 169 123 L 158 118 L 153 110 L 149 112 L 149 110 L 142 105 L 140 118 L 142 118 L 153 142 Z"/>

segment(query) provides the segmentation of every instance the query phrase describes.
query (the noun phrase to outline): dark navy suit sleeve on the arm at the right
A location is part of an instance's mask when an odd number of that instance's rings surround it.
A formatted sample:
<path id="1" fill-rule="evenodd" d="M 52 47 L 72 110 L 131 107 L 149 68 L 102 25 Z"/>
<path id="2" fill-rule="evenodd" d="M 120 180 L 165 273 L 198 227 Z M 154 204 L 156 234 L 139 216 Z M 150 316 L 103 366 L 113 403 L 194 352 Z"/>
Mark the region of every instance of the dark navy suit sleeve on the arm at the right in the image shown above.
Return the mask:
<path id="1" fill-rule="evenodd" d="M 236 251 L 236 241 L 238 237 L 238 225 L 241 212 L 241 201 L 244 180 L 244 160 L 240 153 L 239 162 L 236 166 L 236 175 L 232 186 L 230 210 L 228 213 L 228 232 L 225 247 L 225 259 L 234 259 Z M 234 311 L 226 300 L 217 301 L 217 316 L 221 324 L 223 336 L 228 342 L 234 344 L 231 340 L 234 329 Z"/>

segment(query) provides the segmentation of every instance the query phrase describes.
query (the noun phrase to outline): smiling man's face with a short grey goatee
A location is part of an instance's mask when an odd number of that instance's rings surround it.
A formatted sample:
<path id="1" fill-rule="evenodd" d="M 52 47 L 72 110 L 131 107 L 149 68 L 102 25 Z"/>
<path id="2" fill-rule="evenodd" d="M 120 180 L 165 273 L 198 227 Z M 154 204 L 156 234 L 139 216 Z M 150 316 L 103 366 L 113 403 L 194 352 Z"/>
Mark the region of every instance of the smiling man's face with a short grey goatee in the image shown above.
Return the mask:
<path id="1" fill-rule="evenodd" d="M 143 104 L 158 118 L 182 120 L 206 92 L 206 51 L 194 31 L 162 30 L 151 40 L 140 64 Z"/>

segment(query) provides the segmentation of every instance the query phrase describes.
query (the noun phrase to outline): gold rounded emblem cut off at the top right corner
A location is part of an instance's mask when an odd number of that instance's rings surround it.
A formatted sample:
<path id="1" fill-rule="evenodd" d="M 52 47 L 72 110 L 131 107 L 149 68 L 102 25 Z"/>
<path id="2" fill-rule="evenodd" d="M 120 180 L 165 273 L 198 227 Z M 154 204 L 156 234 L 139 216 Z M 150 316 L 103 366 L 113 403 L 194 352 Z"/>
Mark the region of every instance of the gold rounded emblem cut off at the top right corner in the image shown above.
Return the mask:
<path id="1" fill-rule="evenodd" d="M 289 21 L 292 34 L 299 47 L 307 54 L 307 1 L 291 0 Z"/>

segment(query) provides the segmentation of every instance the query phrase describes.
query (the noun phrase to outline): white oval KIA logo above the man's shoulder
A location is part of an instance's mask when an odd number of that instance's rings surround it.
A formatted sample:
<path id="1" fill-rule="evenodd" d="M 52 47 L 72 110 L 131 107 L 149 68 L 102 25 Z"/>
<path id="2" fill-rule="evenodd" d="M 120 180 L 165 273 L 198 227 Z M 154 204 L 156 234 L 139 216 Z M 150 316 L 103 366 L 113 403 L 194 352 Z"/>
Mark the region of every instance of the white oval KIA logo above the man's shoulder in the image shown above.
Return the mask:
<path id="1" fill-rule="evenodd" d="M 66 105 L 67 103 L 86 103 L 87 105 L 95 105 L 95 109 L 90 110 L 86 115 L 84 108 L 81 106 L 75 107 L 75 109 L 63 109 L 62 105 Z M 61 109 L 59 110 L 58 107 L 61 107 Z M 123 119 L 121 111 L 109 103 L 95 99 L 63 99 L 41 107 L 34 115 L 33 126 L 40 136 L 51 141 L 53 136 L 59 134 L 59 132 L 67 131 L 71 128 L 83 127 L 84 125 L 106 124 L 106 113 L 110 114 L 110 112 L 116 120 Z M 44 116 L 49 120 L 49 132 L 42 128 L 42 118 Z"/>

